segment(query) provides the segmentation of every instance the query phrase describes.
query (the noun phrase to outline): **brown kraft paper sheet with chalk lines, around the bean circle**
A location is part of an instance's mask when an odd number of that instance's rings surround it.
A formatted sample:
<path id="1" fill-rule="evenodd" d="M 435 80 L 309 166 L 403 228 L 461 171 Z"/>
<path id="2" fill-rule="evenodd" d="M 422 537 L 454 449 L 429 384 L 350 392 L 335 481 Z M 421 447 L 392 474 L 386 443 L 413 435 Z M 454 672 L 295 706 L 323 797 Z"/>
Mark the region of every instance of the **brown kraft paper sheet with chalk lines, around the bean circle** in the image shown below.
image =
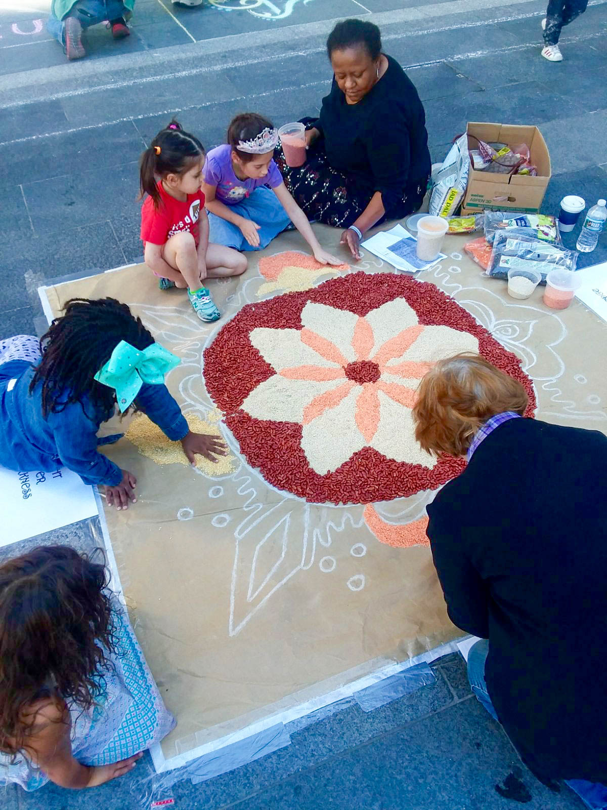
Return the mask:
<path id="1" fill-rule="evenodd" d="M 315 230 L 326 249 L 339 250 L 337 231 Z M 448 258 L 418 279 L 452 295 L 520 357 L 537 392 L 537 418 L 605 430 L 605 323 L 577 301 L 561 312 L 545 308 L 541 288 L 528 301 L 509 298 L 505 282 L 486 278 L 466 256 L 465 241 L 448 237 Z M 209 464 L 159 465 L 126 438 L 107 450 L 138 479 L 138 503 L 106 508 L 105 517 L 131 620 L 177 718 L 162 744 L 166 758 L 462 634 L 448 620 L 429 548 L 380 543 L 363 505 L 307 503 L 267 484 L 206 392 L 202 352 L 244 305 L 350 271 L 395 272 L 368 253 L 351 270 L 312 272 L 302 258 L 298 271 L 292 252 L 304 248 L 298 234 L 282 234 L 248 254 L 240 279 L 211 281 L 223 313 L 215 324 L 195 318 L 183 291 L 159 291 L 144 265 L 46 288 L 54 313 L 74 296 L 128 303 L 182 358 L 167 384 L 186 416 L 228 440 L 219 475 Z M 294 263 L 277 277 L 265 259 L 283 252 Z M 386 501 L 378 513 L 388 523 L 416 521 L 434 494 Z"/>

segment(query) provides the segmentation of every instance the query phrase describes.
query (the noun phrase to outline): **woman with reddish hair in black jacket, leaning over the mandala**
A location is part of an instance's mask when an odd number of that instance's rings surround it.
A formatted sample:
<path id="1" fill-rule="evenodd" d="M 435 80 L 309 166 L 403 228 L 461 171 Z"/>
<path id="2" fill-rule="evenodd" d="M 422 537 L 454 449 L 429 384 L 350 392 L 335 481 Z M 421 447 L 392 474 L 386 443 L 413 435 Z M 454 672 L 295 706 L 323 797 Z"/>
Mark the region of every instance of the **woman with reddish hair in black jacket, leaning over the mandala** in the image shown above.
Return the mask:
<path id="1" fill-rule="evenodd" d="M 520 382 L 457 355 L 422 379 L 424 450 L 468 466 L 427 512 L 473 693 L 542 782 L 607 807 L 607 437 L 523 417 Z"/>

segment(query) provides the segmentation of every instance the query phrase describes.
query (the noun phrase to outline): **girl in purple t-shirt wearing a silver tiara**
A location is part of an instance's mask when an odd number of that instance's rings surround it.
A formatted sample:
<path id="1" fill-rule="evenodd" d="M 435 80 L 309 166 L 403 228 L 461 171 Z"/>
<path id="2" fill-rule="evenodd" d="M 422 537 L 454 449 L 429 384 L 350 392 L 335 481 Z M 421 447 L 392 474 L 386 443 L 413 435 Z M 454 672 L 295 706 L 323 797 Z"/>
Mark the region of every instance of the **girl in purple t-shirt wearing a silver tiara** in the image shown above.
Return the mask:
<path id="1" fill-rule="evenodd" d="M 272 160 L 278 133 L 257 113 L 243 113 L 227 129 L 227 143 L 211 149 L 202 170 L 211 241 L 236 250 L 261 250 L 291 222 L 317 262 L 342 264 L 320 247 Z M 268 188 L 268 186 L 270 186 Z"/>

